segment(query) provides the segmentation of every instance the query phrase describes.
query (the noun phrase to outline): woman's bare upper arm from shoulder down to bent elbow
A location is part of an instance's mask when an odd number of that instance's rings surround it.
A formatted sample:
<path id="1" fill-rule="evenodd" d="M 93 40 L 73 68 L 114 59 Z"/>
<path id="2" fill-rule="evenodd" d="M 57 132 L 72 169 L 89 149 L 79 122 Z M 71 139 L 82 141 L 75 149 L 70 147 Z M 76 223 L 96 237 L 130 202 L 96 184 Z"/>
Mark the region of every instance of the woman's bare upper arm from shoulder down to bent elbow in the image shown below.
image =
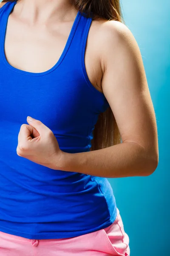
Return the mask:
<path id="1" fill-rule="evenodd" d="M 138 44 L 118 21 L 106 22 L 102 30 L 102 90 L 122 142 L 137 143 L 158 160 L 156 116 Z"/>

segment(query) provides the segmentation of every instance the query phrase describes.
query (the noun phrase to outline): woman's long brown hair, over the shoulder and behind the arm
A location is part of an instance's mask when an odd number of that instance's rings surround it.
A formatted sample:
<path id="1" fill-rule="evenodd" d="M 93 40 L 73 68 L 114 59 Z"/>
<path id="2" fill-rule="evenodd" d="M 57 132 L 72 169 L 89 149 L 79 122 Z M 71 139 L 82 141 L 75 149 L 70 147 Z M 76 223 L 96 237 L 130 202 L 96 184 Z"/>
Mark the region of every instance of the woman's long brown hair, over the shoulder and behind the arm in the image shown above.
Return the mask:
<path id="1" fill-rule="evenodd" d="M 3 0 L 2 2 L 8 2 Z M 11 0 L 14 1 L 14 0 Z M 122 17 L 121 6 L 119 0 L 70 0 L 74 7 L 81 13 L 85 13 L 87 17 L 93 19 L 102 18 L 106 20 L 117 20 L 125 23 Z M 107 148 L 122 142 L 116 119 L 113 115 L 111 107 L 99 114 L 96 122 L 93 139 L 91 140 L 91 151 L 101 148 Z"/>

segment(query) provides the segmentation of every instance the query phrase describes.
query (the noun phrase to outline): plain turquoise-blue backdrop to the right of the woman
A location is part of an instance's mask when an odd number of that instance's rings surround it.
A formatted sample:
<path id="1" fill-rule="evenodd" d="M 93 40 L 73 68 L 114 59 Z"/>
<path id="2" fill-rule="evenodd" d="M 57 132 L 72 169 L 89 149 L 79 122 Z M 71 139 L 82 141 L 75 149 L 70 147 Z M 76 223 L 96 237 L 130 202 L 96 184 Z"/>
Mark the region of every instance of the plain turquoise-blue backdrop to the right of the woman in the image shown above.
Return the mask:
<path id="1" fill-rule="evenodd" d="M 122 0 L 139 45 L 159 138 L 159 165 L 148 177 L 108 178 L 130 239 L 130 256 L 168 256 L 170 233 L 170 1 Z"/>

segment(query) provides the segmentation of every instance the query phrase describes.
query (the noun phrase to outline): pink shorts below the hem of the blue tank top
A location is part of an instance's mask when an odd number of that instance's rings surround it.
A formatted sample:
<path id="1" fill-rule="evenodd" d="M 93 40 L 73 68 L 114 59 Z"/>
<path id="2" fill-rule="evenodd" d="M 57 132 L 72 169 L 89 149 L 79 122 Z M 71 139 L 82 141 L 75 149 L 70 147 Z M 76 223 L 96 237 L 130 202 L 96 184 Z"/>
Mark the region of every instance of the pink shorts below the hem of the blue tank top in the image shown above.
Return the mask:
<path id="1" fill-rule="evenodd" d="M 117 209 L 109 227 L 66 239 L 27 239 L 0 232 L 0 256 L 130 256 L 129 237 Z"/>

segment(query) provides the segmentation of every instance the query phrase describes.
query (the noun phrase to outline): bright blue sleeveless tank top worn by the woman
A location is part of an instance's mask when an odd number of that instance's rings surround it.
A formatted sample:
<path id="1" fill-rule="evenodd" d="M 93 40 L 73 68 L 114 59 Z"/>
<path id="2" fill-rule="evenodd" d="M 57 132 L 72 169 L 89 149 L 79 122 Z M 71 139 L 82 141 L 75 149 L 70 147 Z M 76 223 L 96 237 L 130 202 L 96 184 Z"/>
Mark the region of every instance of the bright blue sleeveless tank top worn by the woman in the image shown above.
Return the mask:
<path id="1" fill-rule="evenodd" d="M 4 52 L 15 4 L 7 2 L 0 9 L 0 231 L 28 239 L 61 239 L 108 227 L 117 208 L 107 178 L 50 169 L 16 152 L 27 116 L 48 126 L 62 151 L 90 151 L 99 113 L 109 106 L 85 70 L 92 18 L 78 12 L 54 67 L 31 73 L 12 67 Z"/>

